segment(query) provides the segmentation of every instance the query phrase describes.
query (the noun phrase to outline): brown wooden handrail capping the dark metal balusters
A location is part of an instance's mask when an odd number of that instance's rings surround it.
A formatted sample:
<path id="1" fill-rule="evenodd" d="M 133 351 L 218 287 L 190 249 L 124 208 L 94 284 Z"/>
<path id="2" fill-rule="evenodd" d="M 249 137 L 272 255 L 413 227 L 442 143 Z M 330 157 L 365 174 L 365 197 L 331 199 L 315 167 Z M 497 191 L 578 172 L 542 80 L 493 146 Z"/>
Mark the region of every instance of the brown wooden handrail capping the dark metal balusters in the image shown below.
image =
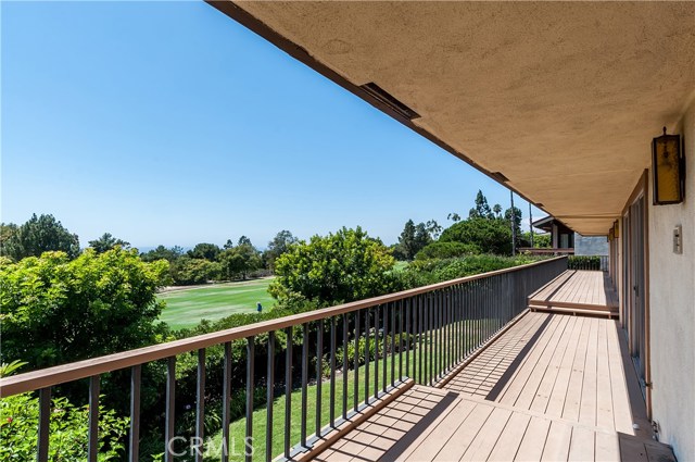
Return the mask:
<path id="1" fill-rule="evenodd" d="M 542 260 L 525 265 L 476 274 L 472 276 L 459 277 L 457 279 L 451 279 L 429 286 L 417 287 L 415 289 L 403 290 L 386 296 L 379 296 L 365 300 L 339 304 L 336 307 L 324 308 L 307 313 L 293 314 L 290 316 L 278 317 L 276 320 L 264 321 L 261 323 L 249 324 L 245 326 L 218 330 L 211 334 L 203 334 L 195 337 L 167 341 L 165 344 L 153 345 L 150 347 L 138 348 L 135 350 L 123 351 L 119 353 L 108 354 L 89 360 L 56 365 L 53 367 L 47 367 L 38 371 L 31 371 L 24 374 L 4 377 L 0 378 L 0 398 L 33 391 L 40 388 L 51 387 L 54 385 L 64 384 L 66 382 L 78 380 L 80 378 L 91 377 L 92 375 L 117 371 L 137 364 L 162 360 L 174 357 L 176 354 L 187 353 L 190 351 L 199 350 L 201 348 L 225 344 L 227 341 L 240 340 L 270 330 L 280 330 L 299 324 L 305 324 L 313 321 L 350 313 L 356 310 L 362 310 L 364 308 L 376 307 L 392 301 L 403 300 L 432 290 L 455 286 L 457 284 L 483 279 L 500 274 L 522 271 L 531 266 L 547 264 L 566 258 L 567 257 L 556 257 L 553 259 Z"/>

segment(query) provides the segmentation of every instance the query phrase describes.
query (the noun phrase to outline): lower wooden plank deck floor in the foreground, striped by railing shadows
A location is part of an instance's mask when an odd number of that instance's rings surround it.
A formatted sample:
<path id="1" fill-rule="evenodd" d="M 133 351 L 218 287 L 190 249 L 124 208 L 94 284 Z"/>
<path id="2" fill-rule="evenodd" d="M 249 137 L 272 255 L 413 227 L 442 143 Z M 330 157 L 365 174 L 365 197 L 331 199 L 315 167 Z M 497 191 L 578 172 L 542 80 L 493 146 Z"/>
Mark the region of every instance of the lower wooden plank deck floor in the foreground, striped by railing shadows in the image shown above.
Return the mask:
<path id="1" fill-rule="evenodd" d="M 444 388 L 414 386 L 321 461 L 673 461 L 616 321 L 528 313 Z"/>

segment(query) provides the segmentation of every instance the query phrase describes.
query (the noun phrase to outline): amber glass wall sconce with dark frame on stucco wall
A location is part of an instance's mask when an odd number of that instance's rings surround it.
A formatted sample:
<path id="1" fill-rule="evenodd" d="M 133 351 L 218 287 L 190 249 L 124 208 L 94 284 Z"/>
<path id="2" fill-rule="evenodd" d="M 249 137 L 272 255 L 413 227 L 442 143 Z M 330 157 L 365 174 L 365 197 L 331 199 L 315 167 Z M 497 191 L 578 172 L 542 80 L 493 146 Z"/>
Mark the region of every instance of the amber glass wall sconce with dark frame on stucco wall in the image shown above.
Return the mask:
<path id="1" fill-rule="evenodd" d="M 683 202 L 685 189 L 685 158 L 681 153 L 681 136 L 664 135 L 652 140 L 652 171 L 654 174 L 654 204 Z"/>

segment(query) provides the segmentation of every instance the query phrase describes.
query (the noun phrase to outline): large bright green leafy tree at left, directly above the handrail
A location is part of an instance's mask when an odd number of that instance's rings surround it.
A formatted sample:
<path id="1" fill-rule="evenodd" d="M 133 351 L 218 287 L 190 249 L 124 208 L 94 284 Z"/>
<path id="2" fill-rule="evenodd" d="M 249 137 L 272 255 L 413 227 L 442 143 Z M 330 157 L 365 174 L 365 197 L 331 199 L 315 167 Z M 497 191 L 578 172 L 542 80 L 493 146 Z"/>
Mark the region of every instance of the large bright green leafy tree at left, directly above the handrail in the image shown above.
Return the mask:
<path id="1" fill-rule="evenodd" d="M 33 369 L 125 351 L 157 341 L 168 263 L 137 250 L 85 250 L 75 260 L 45 252 L 0 265 L 2 362 Z"/>

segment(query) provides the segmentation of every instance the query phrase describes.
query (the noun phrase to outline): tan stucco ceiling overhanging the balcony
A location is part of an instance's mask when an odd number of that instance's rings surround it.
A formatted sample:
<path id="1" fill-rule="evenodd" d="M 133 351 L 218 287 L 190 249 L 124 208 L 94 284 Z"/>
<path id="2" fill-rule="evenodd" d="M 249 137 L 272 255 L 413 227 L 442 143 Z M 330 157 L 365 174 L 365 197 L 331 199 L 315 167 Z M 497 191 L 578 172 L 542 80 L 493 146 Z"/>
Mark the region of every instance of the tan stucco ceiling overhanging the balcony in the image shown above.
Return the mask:
<path id="1" fill-rule="evenodd" d="M 230 14 L 225 3 L 213 2 Z M 420 115 L 415 128 L 502 172 L 585 235 L 607 233 L 649 164 L 652 138 L 678 123 L 695 90 L 695 2 L 242 1 L 233 10 L 349 83 L 376 83 Z"/>

